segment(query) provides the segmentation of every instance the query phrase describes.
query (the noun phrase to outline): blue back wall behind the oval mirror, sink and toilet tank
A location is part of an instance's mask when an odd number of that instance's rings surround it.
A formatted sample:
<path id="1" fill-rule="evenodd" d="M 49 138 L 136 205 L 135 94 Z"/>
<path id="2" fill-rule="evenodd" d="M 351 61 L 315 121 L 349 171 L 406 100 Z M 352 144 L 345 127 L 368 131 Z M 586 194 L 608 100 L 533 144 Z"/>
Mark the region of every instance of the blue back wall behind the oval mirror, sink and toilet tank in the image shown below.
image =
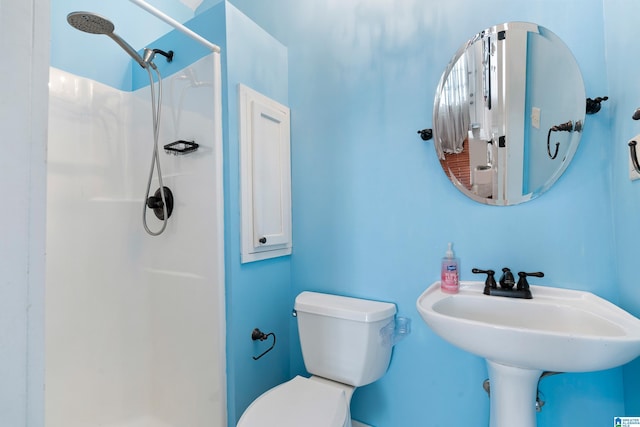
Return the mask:
<path id="1" fill-rule="evenodd" d="M 234 4 L 289 48 L 292 293 L 395 301 L 414 319 L 388 374 L 356 391 L 354 417 L 380 427 L 486 425 L 483 362 L 431 333 L 416 298 L 438 278 L 453 241 L 463 279 L 474 278 L 474 266 L 540 269 L 547 275 L 541 283 L 619 302 L 613 158 L 603 144 L 612 139 L 611 109 L 586 119 L 574 162 L 551 191 L 508 208 L 460 195 L 416 130 L 431 125 L 434 91 L 451 55 L 474 32 L 504 21 L 551 29 L 573 51 L 587 95 L 607 94 L 602 1 Z M 569 18 L 577 13 L 579 20 Z M 291 354 L 292 374 L 302 372 L 297 346 Z M 622 369 L 551 377 L 541 389 L 541 426 L 609 425 L 625 412 Z"/>

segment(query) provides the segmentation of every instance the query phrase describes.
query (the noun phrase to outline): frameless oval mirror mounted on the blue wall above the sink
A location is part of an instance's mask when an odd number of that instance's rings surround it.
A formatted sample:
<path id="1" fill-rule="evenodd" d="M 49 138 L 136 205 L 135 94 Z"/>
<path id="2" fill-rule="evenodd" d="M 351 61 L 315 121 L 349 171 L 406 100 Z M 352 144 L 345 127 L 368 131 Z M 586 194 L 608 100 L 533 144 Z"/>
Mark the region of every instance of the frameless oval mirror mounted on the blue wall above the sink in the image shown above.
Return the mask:
<path id="1" fill-rule="evenodd" d="M 544 193 L 578 148 L 586 98 L 569 48 L 536 24 L 476 34 L 440 79 L 434 145 L 451 182 L 473 200 L 515 205 Z"/>

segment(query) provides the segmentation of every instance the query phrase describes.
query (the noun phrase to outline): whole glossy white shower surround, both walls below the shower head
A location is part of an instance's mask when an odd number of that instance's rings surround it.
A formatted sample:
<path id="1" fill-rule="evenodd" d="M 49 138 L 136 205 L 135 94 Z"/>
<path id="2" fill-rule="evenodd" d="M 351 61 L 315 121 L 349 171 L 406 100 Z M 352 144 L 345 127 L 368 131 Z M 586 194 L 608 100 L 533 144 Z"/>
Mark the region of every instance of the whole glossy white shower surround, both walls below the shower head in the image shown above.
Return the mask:
<path id="1" fill-rule="evenodd" d="M 158 237 L 142 225 L 149 87 L 50 70 L 46 427 L 226 426 L 219 61 L 163 80 L 160 160 L 175 206 Z M 199 148 L 162 150 L 177 140 Z"/>

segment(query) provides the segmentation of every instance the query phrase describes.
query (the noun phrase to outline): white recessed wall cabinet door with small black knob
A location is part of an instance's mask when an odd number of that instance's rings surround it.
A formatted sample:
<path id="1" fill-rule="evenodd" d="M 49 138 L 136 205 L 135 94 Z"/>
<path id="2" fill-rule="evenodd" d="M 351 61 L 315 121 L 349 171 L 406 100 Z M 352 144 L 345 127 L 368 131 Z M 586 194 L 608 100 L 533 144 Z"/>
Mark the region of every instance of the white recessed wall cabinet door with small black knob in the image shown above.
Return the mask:
<path id="1" fill-rule="evenodd" d="M 291 253 L 290 111 L 239 85 L 242 262 Z"/>

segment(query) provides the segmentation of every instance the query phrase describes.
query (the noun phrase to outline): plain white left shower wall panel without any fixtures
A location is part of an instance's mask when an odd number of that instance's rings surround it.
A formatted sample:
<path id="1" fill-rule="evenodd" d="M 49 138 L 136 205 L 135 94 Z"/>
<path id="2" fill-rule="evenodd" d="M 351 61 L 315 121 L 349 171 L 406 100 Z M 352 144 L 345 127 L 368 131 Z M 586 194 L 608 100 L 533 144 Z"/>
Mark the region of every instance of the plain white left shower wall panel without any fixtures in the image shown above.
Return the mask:
<path id="1" fill-rule="evenodd" d="M 47 427 L 118 425 L 150 404 L 147 290 L 128 253 L 129 97 L 51 69 Z"/>

